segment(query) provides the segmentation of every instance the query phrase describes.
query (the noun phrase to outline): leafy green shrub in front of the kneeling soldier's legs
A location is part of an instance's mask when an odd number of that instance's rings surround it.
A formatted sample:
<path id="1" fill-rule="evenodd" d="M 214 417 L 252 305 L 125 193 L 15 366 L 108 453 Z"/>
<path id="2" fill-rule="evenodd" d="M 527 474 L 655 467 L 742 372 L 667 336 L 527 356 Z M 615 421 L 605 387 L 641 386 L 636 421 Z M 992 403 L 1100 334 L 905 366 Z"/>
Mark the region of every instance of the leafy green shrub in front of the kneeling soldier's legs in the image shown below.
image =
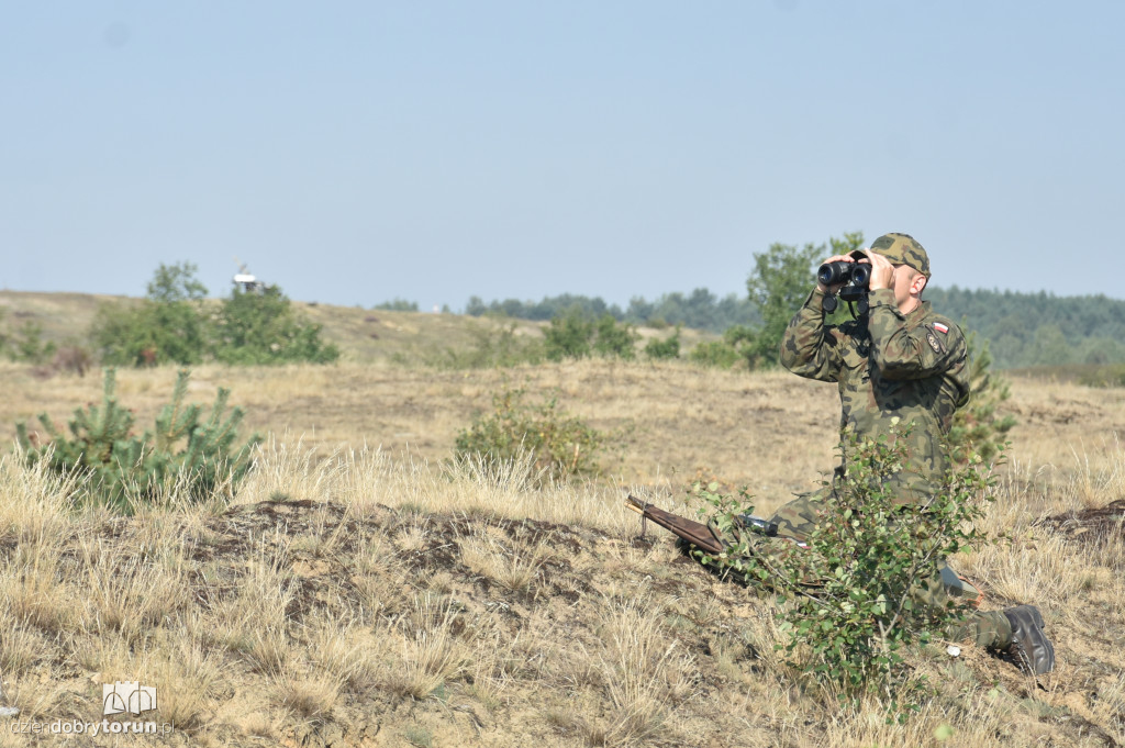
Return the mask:
<path id="1" fill-rule="evenodd" d="M 739 539 L 720 557 L 700 553 L 701 560 L 786 598 L 782 629 L 802 672 L 818 674 L 845 699 L 883 694 L 899 717 L 915 706 L 896 701 L 901 686 L 918 685 L 904 667 L 904 648 L 939 636 L 964 614 L 925 607 L 916 585 L 937 574 L 943 559 L 981 540 L 973 523 L 983 514 L 990 481 L 974 456 L 947 471 L 928 506 L 897 505 L 893 478 L 903 469 L 908 434 L 902 429 L 890 439 L 846 444 L 837 497 L 825 503 L 806 549 L 756 553 L 759 537 L 731 534 L 737 516 L 753 507 L 713 493 L 714 486 L 698 489 L 718 529 Z"/>

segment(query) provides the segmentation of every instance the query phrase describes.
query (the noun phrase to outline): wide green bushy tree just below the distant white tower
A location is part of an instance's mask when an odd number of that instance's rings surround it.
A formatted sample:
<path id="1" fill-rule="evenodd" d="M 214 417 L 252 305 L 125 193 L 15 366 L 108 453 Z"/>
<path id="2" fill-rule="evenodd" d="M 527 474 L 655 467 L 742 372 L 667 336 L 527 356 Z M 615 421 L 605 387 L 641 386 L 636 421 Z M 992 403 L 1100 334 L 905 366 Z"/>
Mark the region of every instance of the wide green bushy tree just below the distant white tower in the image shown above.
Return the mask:
<path id="1" fill-rule="evenodd" d="M 261 292 L 235 288 L 214 324 L 212 353 L 223 363 L 331 363 L 340 358 L 340 349 L 321 339 L 321 325 L 302 319 L 277 286 Z"/>

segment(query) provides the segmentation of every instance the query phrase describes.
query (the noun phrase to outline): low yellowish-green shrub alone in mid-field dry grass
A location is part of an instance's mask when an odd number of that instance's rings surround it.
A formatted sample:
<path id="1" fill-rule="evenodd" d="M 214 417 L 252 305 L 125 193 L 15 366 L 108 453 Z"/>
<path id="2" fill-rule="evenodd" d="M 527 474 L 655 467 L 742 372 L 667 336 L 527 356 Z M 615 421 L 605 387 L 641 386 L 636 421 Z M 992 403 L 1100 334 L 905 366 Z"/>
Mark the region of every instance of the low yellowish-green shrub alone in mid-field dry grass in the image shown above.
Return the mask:
<path id="1" fill-rule="evenodd" d="M 474 418 L 457 435 L 457 459 L 504 462 L 531 452 L 550 480 L 598 475 L 608 436 L 561 411 L 557 398 L 531 404 L 524 402 L 524 394 L 505 387 L 493 395 L 492 412 Z"/>

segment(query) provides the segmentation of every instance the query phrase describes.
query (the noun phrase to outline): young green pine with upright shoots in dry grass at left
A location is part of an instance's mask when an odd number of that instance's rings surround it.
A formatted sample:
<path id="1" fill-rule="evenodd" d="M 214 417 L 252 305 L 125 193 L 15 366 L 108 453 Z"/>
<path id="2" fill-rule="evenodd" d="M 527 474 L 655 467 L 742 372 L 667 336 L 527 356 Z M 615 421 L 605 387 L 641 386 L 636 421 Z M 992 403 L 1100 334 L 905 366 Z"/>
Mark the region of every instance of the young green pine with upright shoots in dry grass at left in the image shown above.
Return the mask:
<path id="1" fill-rule="evenodd" d="M 242 408 L 224 414 L 230 390 L 219 388 L 206 420 L 199 405 L 184 403 L 188 372 L 180 371 L 172 400 L 156 416 L 155 429 L 141 438 L 133 433 L 133 413 L 115 396 L 112 369 L 106 370 L 101 405 L 74 411 L 70 434 L 46 414 L 39 423 L 50 441 L 32 434 L 27 425 L 16 426 L 17 439 L 29 462 L 46 460 L 53 470 L 84 474 L 88 498 L 130 513 L 171 487 L 192 501 L 217 492 L 233 494 L 251 465 L 254 434 L 237 444 Z"/>

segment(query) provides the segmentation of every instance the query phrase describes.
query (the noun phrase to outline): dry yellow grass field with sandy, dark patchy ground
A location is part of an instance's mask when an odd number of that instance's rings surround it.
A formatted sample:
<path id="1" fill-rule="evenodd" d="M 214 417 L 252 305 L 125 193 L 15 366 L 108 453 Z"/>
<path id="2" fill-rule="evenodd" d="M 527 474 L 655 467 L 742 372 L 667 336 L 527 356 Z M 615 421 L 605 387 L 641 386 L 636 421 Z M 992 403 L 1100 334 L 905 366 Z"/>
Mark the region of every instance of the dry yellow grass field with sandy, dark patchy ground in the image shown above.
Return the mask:
<path id="1" fill-rule="evenodd" d="M 11 364 L 0 377 L 10 434 L 100 397 L 97 377 Z M 119 372 L 141 427 L 173 380 Z M 840 709 L 785 664 L 768 596 L 683 559 L 657 528 L 638 537 L 622 505 L 632 490 L 688 512 L 685 488 L 705 476 L 749 486 L 770 512 L 831 467 L 831 386 L 603 361 L 204 367 L 192 381 L 202 403 L 232 388 L 268 435 L 234 506 L 170 495 L 128 519 L 74 513 L 72 485 L 11 454 L 0 463 L 3 703 L 44 729 L 100 724 L 101 684 L 138 681 L 159 692 L 138 719 L 174 731 L 68 739 L 0 721 L 3 744 L 1125 744 L 1122 510 L 1100 524 L 1090 512 L 1125 497 L 1125 391 L 1015 380 L 1019 425 L 987 520 L 1010 542 L 954 562 L 988 606 L 1042 607 L 1056 672 L 1036 682 L 935 647 L 912 660 L 933 695 L 889 726 L 878 704 Z M 446 467 L 457 431 L 505 381 L 626 429 L 610 475 L 537 489 L 522 465 L 500 478 Z"/>

